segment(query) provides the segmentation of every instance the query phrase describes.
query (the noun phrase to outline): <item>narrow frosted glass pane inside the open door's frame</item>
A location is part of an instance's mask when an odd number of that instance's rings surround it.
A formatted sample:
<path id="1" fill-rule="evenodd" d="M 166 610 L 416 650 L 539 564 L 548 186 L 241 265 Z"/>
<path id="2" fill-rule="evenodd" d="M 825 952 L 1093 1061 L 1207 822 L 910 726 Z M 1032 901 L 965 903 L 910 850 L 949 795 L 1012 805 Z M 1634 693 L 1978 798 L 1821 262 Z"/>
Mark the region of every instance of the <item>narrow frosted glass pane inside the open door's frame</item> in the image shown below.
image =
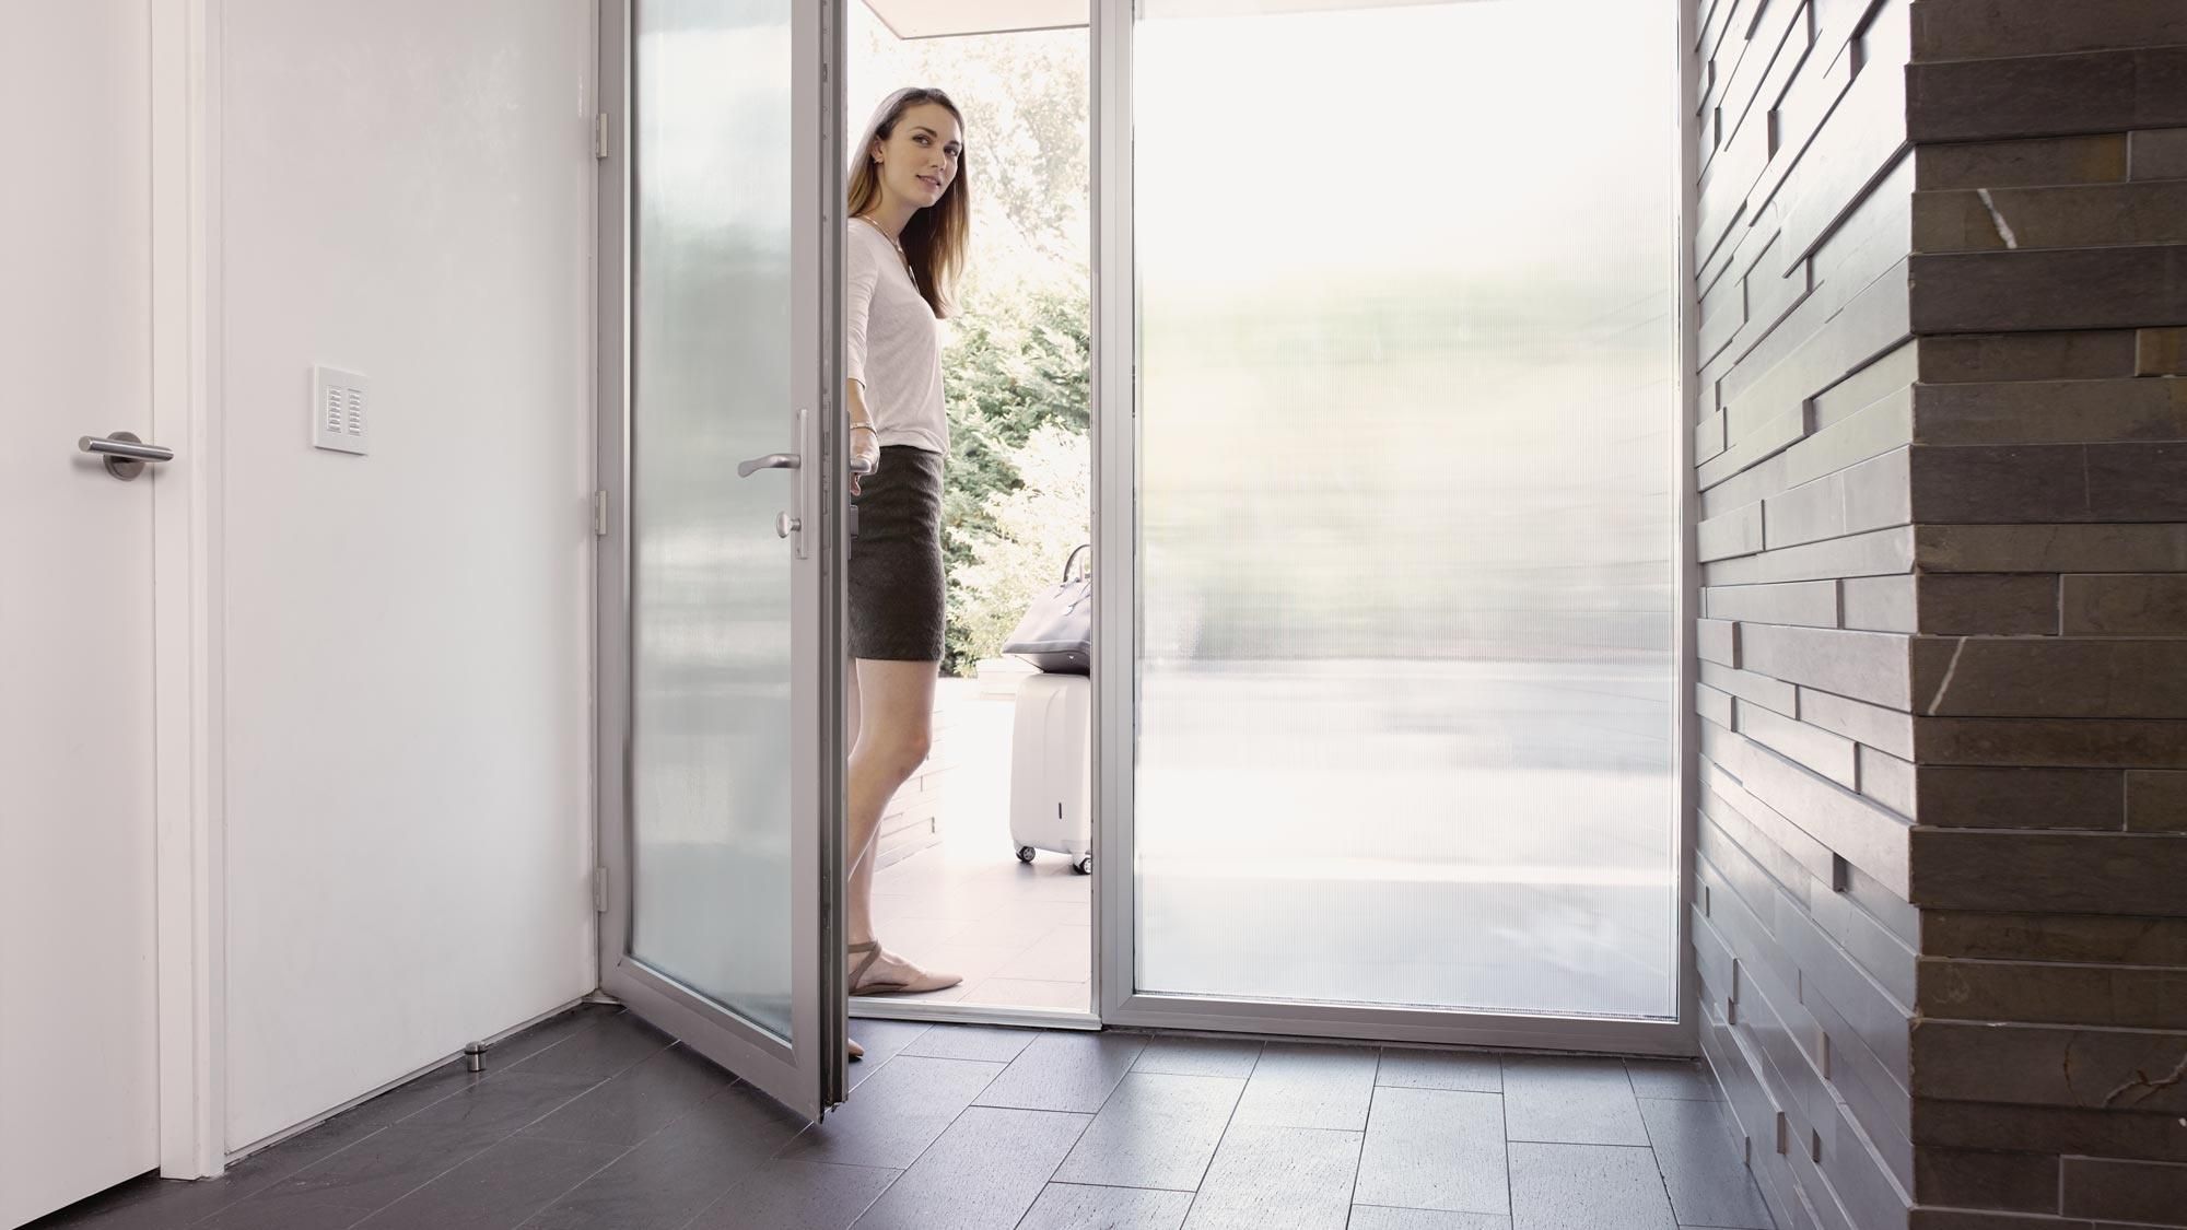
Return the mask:
<path id="1" fill-rule="evenodd" d="M 632 952 L 790 1035 L 790 0 L 636 4 Z"/>

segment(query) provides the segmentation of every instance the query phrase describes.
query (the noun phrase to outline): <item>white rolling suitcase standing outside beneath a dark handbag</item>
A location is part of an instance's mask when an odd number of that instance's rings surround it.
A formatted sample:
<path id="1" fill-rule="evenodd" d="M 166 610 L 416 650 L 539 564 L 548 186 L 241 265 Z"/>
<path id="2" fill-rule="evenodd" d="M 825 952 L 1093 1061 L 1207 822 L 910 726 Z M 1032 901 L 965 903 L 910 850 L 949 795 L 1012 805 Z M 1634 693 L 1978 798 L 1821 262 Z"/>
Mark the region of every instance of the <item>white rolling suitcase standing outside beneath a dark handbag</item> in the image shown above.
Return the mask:
<path id="1" fill-rule="evenodd" d="M 1017 858 L 1067 854 L 1094 871 L 1094 681 L 1032 674 L 1017 685 L 1010 731 L 1010 840 Z"/>

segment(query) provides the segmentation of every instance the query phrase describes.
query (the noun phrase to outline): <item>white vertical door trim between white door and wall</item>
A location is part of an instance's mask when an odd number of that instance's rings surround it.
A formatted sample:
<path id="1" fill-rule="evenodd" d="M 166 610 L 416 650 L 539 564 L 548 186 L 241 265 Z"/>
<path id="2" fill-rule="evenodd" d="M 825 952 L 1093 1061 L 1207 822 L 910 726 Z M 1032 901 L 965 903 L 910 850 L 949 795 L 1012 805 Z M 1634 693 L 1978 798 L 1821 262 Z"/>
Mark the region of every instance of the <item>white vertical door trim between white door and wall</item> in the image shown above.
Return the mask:
<path id="1" fill-rule="evenodd" d="M 160 1173 L 225 1167 L 221 0 L 151 9 L 153 834 Z"/>

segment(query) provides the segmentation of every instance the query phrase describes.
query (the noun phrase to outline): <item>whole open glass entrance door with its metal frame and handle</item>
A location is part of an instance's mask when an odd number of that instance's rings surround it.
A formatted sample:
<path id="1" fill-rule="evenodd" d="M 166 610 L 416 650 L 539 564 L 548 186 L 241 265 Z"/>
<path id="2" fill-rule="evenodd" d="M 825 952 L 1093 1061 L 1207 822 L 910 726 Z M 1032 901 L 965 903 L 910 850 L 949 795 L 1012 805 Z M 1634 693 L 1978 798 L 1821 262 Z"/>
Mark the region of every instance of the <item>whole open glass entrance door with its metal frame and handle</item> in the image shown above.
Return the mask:
<path id="1" fill-rule="evenodd" d="M 835 11 L 610 2 L 601 44 L 601 983 L 818 1118 L 844 1090 Z"/>

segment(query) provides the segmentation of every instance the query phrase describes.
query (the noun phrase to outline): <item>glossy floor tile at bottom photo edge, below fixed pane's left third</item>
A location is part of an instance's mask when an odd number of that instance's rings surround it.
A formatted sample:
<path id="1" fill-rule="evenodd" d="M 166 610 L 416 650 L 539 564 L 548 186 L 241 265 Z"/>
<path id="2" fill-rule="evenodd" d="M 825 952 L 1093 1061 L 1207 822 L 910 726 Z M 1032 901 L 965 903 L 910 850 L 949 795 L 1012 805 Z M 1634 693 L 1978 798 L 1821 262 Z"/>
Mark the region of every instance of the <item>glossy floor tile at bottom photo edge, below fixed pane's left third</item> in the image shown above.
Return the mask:
<path id="1" fill-rule="evenodd" d="M 1185 1230 L 1345 1230 L 1360 1136 L 1231 1123 Z"/>

